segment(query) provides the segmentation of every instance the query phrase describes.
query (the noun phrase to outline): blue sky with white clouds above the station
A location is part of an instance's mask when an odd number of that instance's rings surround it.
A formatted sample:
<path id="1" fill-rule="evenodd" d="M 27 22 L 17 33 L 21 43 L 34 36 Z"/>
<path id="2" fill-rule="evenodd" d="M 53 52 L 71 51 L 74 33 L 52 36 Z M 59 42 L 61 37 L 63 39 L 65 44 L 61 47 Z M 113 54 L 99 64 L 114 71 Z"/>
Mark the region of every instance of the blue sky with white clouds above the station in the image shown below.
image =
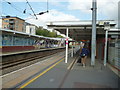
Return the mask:
<path id="1" fill-rule="evenodd" d="M 120 0 L 97 0 L 97 20 L 118 20 Z M 7 2 L 10 2 L 8 4 Z M 47 0 L 28 0 L 35 14 L 47 10 Z M 36 20 L 26 0 L 2 0 L 2 16 L 10 15 L 26 22 L 44 26 L 50 21 L 92 20 L 92 0 L 48 0 L 49 13 L 37 15 Z M 26 9 L 26 14 L 23 11 Z"/>

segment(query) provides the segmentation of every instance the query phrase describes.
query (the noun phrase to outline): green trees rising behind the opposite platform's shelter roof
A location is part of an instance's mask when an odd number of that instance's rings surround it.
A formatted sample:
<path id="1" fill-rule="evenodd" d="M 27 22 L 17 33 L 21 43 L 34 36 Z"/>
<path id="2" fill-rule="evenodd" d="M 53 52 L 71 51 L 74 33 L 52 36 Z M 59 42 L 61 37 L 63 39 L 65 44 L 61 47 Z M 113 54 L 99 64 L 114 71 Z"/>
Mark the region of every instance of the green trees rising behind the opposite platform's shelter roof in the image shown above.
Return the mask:
<path id="1" fill-rule="evenodd" d="M 36 35 L 45 36 L 45 37 L 58 37 L 62 38 L 61 35 L 57 35 L 56 32 L 50 32 L 47 29 L 42 29 L 41 27 L 37 28 Z"/>

